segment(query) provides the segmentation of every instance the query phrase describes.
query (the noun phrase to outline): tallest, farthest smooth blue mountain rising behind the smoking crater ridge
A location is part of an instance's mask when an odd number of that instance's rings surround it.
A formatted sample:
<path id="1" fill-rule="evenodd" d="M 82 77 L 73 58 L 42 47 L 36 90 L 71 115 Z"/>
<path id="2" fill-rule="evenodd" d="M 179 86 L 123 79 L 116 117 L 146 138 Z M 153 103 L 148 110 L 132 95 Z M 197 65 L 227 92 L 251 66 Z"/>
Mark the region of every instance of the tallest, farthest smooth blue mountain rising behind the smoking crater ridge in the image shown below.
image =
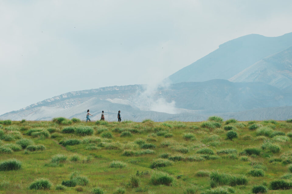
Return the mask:
<path id="1" fill-rule="evenodd" d="M 169 76 L 172 83 L 230 79 L 239 72 L 292 46 L 292 32 L 265 37 L 251 34 L 220 45 L 217 50 Z"/>

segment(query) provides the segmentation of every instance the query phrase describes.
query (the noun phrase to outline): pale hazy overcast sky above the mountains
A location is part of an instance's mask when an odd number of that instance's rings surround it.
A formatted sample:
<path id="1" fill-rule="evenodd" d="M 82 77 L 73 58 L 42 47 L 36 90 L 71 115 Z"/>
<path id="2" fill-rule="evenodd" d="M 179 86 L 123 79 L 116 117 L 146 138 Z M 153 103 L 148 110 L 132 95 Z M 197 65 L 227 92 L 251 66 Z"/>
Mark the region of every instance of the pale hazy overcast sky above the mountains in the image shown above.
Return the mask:
<path id="1" fill-rule="evenodd" d="M 0 0 L 0 114 L 158 82 L 247 34 L 292 32 L 291 0 Z"/>

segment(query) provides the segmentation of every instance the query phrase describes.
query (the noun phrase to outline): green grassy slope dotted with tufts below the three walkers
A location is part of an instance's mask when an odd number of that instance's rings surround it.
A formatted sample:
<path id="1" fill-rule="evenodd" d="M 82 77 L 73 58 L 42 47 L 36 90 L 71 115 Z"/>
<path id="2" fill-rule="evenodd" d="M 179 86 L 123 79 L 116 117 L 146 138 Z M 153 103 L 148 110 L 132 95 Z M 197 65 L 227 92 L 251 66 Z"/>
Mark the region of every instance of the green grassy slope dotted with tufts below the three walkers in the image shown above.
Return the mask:
<path id="1" fill-rule="evenodd" d="M 217 117 L 0 121 L 0 193 L 291 193 L 291 130 Z"/>

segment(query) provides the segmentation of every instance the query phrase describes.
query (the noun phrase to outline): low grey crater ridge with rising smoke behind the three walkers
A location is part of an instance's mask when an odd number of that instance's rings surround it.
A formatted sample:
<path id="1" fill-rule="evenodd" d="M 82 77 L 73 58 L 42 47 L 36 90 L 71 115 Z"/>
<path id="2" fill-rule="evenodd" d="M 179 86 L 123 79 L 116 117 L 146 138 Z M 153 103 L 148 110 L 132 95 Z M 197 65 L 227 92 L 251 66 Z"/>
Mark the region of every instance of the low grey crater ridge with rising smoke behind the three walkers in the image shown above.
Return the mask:
<path id="1" fill-rule="evenodd" d="M 163 101 L 159 101 L 160 99 Z M 151 111 L 153 106 L 160 106 L 163 103 L 164 111 L 172 109 L 174 113 L 179 114 Z M 94 115 L 93 120 L 99 120 L 101 111 L 104 110 L 106 119 L 114 121 L 117 111 L 121 110 L 123 120 L 202 121 L 213 114 L 225 115 L 225 117 L 234 115 L 238 119 L 246 118 L 246 115 L 236 116 L 234 112 L 289 105 L 292 105 L 290 95 L 271 85 L 210 80 L 158 87 L 150 94 L 147 93 L 145 85 L 68 92 L 24 109 L 5 113 L 0 115 L 0 119 L 51 120 L 58 116 L 85 119 L 86 110 L 90 109 L 91 114 Z"/>

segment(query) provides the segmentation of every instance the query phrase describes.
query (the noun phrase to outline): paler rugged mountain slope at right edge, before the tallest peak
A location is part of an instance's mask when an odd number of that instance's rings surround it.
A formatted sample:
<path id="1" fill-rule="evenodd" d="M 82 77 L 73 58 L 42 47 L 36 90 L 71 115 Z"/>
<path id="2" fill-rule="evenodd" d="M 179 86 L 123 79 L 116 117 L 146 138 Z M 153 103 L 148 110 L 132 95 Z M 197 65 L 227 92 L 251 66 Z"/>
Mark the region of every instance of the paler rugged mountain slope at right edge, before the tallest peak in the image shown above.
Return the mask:
<path id="1" fill-rule="evenodd" d="M 231 82 L 263 82 L 292 90 L 292 47 L 266 57 L 229 79 Z"/>

